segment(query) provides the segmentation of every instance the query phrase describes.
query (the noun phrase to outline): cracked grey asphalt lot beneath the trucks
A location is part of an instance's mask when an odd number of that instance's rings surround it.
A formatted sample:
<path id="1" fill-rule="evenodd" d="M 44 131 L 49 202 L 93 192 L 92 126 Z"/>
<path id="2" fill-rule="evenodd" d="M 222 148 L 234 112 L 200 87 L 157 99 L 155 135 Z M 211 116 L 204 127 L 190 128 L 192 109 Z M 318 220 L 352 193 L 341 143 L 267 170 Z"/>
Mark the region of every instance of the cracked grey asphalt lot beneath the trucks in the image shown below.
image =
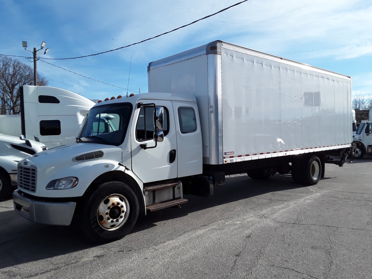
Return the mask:
<path id="1" fill-rule="evenodd" d="M 372 156 L 302 187 L 227 178 L 214 196 L 140 217 L 104 245 L 0 202 L 0 278 L 372 278 Z"/>

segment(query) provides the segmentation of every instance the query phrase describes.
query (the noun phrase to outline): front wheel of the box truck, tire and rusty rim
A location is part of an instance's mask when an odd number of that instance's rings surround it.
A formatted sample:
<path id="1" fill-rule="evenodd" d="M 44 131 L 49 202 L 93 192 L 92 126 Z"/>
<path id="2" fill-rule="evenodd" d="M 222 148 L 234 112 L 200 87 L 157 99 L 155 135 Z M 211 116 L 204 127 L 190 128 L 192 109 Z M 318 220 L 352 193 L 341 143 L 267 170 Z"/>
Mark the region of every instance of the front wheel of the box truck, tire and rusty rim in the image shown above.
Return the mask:
<path id="1" fill-rule="evenodd" d="M 76 221 L 91 240 L 107 243 L 127 235 L 138 212 L 138 199 L 131 187 L 122 182 L 107 182 L 84 199 Z"/>

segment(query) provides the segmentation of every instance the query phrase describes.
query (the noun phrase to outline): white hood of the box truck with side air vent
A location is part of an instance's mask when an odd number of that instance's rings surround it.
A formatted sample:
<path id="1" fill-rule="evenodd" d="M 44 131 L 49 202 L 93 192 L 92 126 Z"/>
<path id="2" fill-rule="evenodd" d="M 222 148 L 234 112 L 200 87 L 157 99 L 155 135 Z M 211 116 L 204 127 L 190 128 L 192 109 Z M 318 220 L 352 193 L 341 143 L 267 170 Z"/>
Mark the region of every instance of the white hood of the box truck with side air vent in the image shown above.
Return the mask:
<path id="1" fill-rule="evenodd" d="M 18 169 L 36 173 L 36 191 L 21 190 L 37 196 L 81 196 L 96 177 L 122 168 L 121 161 L 122 150 L 113 145 L 81 142 L 55 147 L 19 161 Z M 77 177 L 78 185 L 67 190 L 45 189 L 49 182 L 63 177 Z"/>

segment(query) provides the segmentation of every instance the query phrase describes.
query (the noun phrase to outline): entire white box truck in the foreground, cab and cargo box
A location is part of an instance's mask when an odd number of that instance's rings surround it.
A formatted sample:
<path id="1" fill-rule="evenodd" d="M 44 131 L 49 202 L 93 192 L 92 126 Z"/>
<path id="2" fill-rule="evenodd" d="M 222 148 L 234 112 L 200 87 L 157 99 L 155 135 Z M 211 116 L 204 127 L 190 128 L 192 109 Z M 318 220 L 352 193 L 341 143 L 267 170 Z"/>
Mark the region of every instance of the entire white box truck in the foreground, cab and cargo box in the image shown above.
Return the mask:
<path id="1" fill-rule="evenodd" d="M 139 214 L 212 195 L 226 175 L 291 173 L 315 185 L 325 163 L 343 166 L 351 152 L 342 74 L 214 41 L 151 62 L 148 90 L 106 98 L 77 143 L 20 161 L 16 212 L 107 242 Z"/>

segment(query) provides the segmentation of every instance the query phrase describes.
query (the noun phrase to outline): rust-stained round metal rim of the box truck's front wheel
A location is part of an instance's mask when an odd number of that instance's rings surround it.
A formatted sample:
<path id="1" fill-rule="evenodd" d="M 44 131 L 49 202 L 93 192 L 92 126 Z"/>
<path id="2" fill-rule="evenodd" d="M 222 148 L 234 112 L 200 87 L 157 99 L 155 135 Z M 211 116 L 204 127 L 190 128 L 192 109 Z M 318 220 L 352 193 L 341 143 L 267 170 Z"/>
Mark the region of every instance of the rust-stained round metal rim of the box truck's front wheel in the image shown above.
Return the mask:
<path id="1" fill-rule="evenodd" d="M 129 216 L 129 202 L 125 196 L 113 194 L 102 200 L 97 209 L 97 222 L 103 230 L 122 227 Z"/>

